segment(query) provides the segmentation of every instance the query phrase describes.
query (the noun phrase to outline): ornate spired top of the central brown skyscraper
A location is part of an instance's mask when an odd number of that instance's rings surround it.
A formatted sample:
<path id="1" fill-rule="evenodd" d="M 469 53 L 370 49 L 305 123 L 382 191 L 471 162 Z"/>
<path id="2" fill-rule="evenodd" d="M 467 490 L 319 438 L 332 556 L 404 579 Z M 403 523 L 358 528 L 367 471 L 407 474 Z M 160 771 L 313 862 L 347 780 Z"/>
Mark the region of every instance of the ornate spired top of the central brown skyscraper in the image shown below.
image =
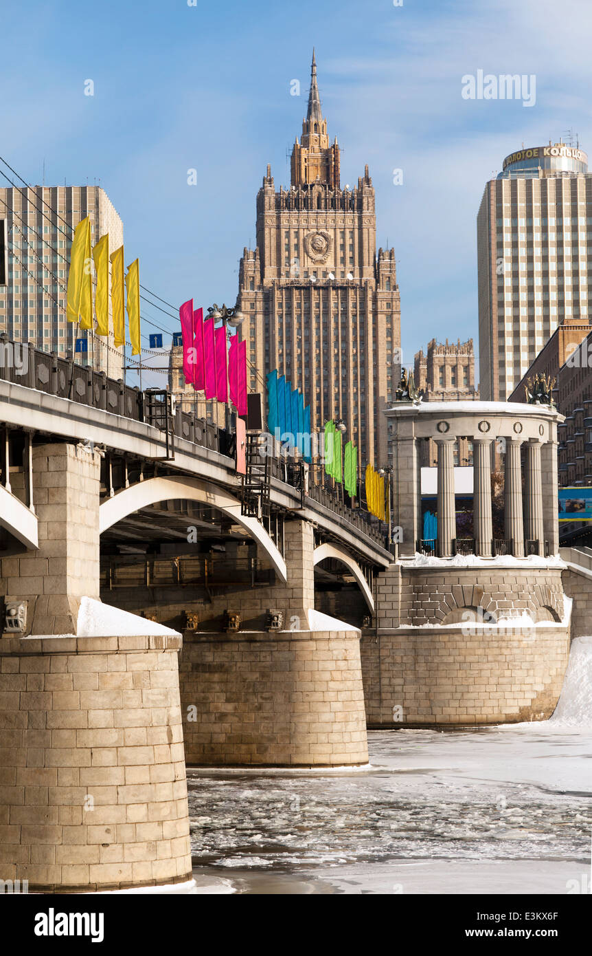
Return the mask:
<path id="1" fill-rule="evenodd" d="M 327 119 L 321 110 L 321 98 L 317 86 L 317 64 L 312 51 L 310 90 L 308 93 L 307 119 L 302 123 L 301 141 L 294 143 L 291 162 L 291 185 L 328 185 L 339 188 L 339 146 L 337 137 L 329 144 Z"/>

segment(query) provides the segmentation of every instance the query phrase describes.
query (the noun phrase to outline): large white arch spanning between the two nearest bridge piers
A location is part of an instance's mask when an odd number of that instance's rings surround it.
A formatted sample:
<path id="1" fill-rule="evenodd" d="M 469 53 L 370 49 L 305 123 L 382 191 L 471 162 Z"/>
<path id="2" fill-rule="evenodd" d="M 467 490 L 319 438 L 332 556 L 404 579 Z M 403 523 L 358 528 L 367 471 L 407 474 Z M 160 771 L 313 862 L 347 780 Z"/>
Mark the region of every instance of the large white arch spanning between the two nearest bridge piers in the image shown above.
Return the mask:
<path id="1" fill-rule="evenodd" d="M 213 485 L 211 482 L 201 481 L 200 478 L 190 478 L 184 475 L 169 475 L 158 478 L 147 478 L 137 482 L 130 488 L 118 491 L 113 498 L 108 498 L 99 508 L 99 532 L 102 533 L 121 521 L 128 514 L 156 505 L 159 501 L 180 499 L 196 501 L 202 505 L 211 505 L 223 514 L 232 518 L 237 525 L 250 534 L 269 557 L 276 573 L 282 581 L 287 580 L 285 560 L 271 540 L 264 526 L 257 518 L 250 518 L 241 514 L 241 502 L 230 494 Z"/>

